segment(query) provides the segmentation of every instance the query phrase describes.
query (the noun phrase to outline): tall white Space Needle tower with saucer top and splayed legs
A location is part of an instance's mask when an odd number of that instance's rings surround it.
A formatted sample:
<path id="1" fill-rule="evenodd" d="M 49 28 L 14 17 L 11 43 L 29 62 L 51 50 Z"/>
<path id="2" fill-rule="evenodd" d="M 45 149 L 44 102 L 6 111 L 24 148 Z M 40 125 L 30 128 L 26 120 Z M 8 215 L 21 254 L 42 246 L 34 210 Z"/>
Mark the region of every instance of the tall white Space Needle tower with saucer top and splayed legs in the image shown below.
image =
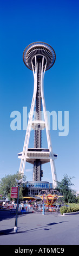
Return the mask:
<path id="1" fill-rule="evenodd" d="M 27 132 L 25 135 L 25 141 L 23 151 L 18 154 L 18 158 L 21 159 L 19 167 L 19 173 L 24 174 L 25 162 L 32 163 L 33 168 L 33 181 L 36 184 L 41 183 L 43 171 L 42 164 L 50 162 L 53 187 L 57 186 L 57 176 L 55 169 L 55 159 L 57 154 L 52 151 L 50 131 L 47 119 L 47 111 L 45 107 L 43 80 L 45 71 L 54 65 L 56 54 L 54 49 L 44 42 L 34 42 L 27 46 L 23 52 L 24 64 L 33 71 L 34 74 L 34 93 L 32 96 L 29 121 L 27 126 Z M 34 114 L 34 108 L 36 110 L 35 120 L 32 120 Z M 42 108 L 44 120 L 42 120 Z M 34 129 L 34 148 L 29 147 L 30 131 Z M 42 129 L 46 130 L 48 149 L 42 148 Z"/>

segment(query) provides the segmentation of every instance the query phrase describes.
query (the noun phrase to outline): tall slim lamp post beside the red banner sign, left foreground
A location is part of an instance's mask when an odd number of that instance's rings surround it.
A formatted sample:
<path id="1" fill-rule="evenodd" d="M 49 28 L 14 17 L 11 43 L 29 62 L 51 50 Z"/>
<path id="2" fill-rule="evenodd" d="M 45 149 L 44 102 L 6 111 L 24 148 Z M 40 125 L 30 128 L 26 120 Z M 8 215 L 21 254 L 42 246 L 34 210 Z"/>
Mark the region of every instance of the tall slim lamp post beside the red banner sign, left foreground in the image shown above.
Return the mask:
<path id="1" fill-rule="evenodd" d="M 16 208 L 15 227 L 14 227 L 14 232 L 15 233 L 17 233 L 17 215 L 18 215 L 19 186 L 21 186 L 22 179 L 21 180 L 17 180 L 16 179 L 16 182 L 17 182 L 17 186 L 18 186 L 18 196 L 17 196 L 17 208 Z"/>

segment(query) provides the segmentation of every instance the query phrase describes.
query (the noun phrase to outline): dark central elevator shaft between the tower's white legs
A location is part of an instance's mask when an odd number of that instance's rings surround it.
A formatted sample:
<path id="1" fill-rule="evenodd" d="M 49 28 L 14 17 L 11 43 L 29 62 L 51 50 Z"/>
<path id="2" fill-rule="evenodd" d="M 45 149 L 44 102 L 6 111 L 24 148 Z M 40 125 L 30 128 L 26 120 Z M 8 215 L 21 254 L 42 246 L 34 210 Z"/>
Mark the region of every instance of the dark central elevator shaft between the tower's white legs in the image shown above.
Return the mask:
<path id="1" fill-rule="evenodd" d="M 41 99 L 41 68 L 42 59 L 37 57 L 37 93 L 36 93 L 36 120 L 41 120 L 42 99 Z M 34 148 L 42 148 L 42 130 L 40 124 L 37 124 L 34 134 Z M 34 161 L 34 180 L 41 181 L 42 166 L 39 159 Z"/>

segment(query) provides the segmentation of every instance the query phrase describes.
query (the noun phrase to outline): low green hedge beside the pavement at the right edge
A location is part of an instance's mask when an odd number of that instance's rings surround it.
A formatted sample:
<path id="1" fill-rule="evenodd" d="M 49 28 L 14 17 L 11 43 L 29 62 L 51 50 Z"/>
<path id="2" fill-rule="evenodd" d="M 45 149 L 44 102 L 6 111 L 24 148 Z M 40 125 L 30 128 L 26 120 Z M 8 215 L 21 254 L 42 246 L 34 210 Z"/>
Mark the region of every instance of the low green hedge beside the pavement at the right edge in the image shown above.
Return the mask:
<path id="1" fill-rule="evenodd" d="M 74 204 L 73 206 L 62 206 L 60 208 L 61 214 L 65 214 L 66 212 L 76 212 L 79 211 L 79 205 Z"/>

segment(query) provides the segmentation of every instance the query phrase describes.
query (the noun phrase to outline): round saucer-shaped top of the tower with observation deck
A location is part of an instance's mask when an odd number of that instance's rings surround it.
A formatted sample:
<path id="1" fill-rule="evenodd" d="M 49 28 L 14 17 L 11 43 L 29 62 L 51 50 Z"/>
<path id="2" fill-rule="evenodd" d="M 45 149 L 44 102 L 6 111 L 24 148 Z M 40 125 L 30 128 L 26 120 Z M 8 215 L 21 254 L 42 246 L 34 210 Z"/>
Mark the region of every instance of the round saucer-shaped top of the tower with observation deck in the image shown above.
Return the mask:
<path id="1" fill-rule="evenodd" d="M 50 69 L 51 66 L 54 65 L 56 59 L 54 49 L 50 45 L 45 44 L 45 42 L 33 42 L 25 48 L 23 52 L 23 61 L 30 70 L 32 70 L 31 63 L 33 63 L 35 69 L 35 56 L 37 56 L 37 59 L 42 59 L 44 56 L 43 70 L 46 63 L 47 66 L 45 70 Z"/>

